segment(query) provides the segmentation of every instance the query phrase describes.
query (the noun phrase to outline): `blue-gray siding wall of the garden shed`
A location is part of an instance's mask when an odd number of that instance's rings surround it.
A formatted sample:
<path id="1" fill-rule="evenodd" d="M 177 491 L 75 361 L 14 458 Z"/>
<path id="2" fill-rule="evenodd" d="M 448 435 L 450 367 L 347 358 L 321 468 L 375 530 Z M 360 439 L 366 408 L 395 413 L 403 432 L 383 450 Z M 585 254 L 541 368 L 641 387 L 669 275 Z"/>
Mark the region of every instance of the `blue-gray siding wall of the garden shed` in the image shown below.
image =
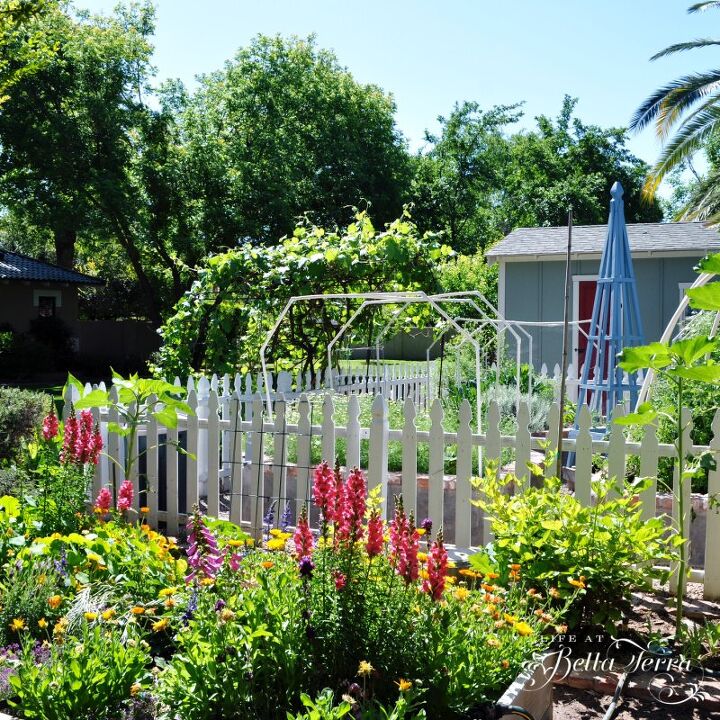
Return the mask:
<path id="1" fill-rule="evenodd" d="M 658 340 L 679 301 L 680 283 L 697 278 L 693 270 L 698 257 L 637 258 L 633 261 L 637 279 L 638 299 L 645 340 Z M 503 261 L 501 261 L 503 262 Z M 505 317 L 508 320 L 558 321 L 563 316 L 565 282 L 564 261 L 511 261 L 505 265 Z M 572 274 L 594 275 L 599 260 L 574 260 Z M 570 318 L 573 317 L 572 289 Z M 550 370 L 561 360 L 561 328 L 527 328 L 533 336 L 533 363 L 545 363 Z M 571 337 L 572 339 L 572 337 Z M 507 352 L 515 357 L 515 342 L 508 338 Z M 522 361 L 527 362 L 527 348 L 523 347 Z M 572 354 L 570 355 L 572 361 Z"/>

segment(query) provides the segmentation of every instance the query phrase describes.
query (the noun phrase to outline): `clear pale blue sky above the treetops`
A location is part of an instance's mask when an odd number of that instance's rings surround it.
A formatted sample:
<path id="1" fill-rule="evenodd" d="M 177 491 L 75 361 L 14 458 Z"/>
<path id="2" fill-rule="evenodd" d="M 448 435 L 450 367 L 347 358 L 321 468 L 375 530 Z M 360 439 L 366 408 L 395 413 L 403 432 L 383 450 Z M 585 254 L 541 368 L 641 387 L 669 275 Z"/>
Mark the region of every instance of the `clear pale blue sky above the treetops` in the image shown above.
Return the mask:
<path id="1" fill-rule="evenodd" d="M 116 0 L 76 0 L 93 12 Z M 484 108 L 525 100 L 530 127 L 557 115 L 565 93 L 585 122 L 627 125 L 638 103 L 677 75 L 715 65 L 720 51 L 649 57 L 720 35 L 720 12 L 688 15 L 690 0 L 157 0 L 158 77 L 189 85 L 222 67 L 258 33 L 317 35 L 360 82 L 391 92 L 412 148 L 456 101 Z M 651 130 L 631 150 L 654 161 Z"/>

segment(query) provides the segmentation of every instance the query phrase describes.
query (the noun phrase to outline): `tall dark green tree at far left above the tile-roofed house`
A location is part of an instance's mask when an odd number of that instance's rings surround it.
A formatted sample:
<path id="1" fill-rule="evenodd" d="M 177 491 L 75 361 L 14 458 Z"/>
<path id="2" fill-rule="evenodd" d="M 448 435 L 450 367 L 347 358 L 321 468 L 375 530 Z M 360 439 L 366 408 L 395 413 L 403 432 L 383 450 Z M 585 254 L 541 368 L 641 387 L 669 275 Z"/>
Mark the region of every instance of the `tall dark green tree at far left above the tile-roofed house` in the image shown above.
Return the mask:
<path id="1" fill-rule="evenodd" d="M 142 97 L 152 10 L 133 6 L 112 18 L 70 12 L 48 19 L 56 55 L 15 83 L 0 114 L 0 194 L 16 216 L 52 232 L 66 267 L 80 234 L 114 239 L 159 321 L 136 227 L 142 194 L 129 173 L 138 128 L 152 116 Z"/>

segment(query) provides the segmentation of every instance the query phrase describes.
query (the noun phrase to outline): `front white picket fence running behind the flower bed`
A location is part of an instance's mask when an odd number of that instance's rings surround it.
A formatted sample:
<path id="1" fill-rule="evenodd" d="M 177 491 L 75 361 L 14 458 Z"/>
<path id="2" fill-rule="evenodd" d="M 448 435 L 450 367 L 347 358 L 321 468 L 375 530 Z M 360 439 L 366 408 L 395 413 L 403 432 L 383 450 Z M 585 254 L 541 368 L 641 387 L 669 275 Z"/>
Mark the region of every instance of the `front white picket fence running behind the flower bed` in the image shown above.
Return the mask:
<path id="1" fill-rule="evenodd" d="M 151 524 L 163 524 L 166 531 L 176 534 L 186 522 L 187 513 L 195 504 L 209 515 L 227 513 L 232 522 L 246 526 L 254 535 L 261 531 L 263 516 L 275 503 L 274 518 L 277 524 L 286 501 L 290 502 L 292 517 L 297 517 L 302 505 L 311 497 L 313 448 L 316 456 L 334 461 L 339 441 L 344 445 L 341 461 L 346 468 L 361 466 L 362 446 L 366 444 L 367 477 L 370 488 L 380 487 L 387 501 L 392 492 L 402 492 L 405 507 L 416 517 L 427 515 L 436 525 L 444 524 L 446 537 L 456 548 L 470 548 L 490 540 L 490 529 L 482 513 L 471 506 L 473 489 L 471 476 L 475 475 L 474 456 L 487 460 L 500 460 L 503 449 L 509 448 L 514 456 L 520 477 L 518 492 L 527 485 L 527 463 L 532 450 L 543 448 L 543 438 L 533 437 L 528 430 L 529 410 L 525 402 L 518 408 L 515 435 L 502 435 L 500 413 L 496 403 L 489 405 L 483 433 L 471 427 L 472 410 L 467 400 L 460 408 L 459 428 L 446 432 L 443 427 L 443 408 L 438 399 L 430 407 L 430 429 L 416 426 L 418 402 L 408 394 L 403 406 L 403 427 L 390 429 L 388 405 L 382 394 L 372 403 L 372 421 L 361 427 L 360 402 L 357 394 L 342 401 L 347 403 L 347 422 L 335 421 L 335 403 L 339 394 L 325 393 L 321 407 L 313 404 L 313 396 L 303 392 L 293 403 L 297 420 L 289 422 L 289 401 L 282 393 L 274 395 L 274 413 L 270 421 L 264 396 L 258 392 L 248 398 L 244 388 L 230 389 L 227 382 L 201 381 L 198 387 L 190 383 L 187 401 L 194 410 L 189 417 L 181 417 L 176 428 L 163 428 L 150 418 L 140 426 L 135 452 L 145 449 L 141 472 L 138 469 L 130 478 L 135 486 L 136 509 L 149 508 Z M 347 386 L 352 386 L 348 383 Z M 112 390 L 111 392 L 114 392 Z M 71 399 L 71 398 L 68 398 Z M 67 406 L 67 404 L 66 404 Z M 624 410 L 618 407 L 617 413 Z M 559 406 L 553 405 L 547 419 L 550 429 L 547 440 L 557 446 Z M 97 411 L 105 438 L 107 453 L 119 461 L 124 458 L 124 438 L 108 430 L 108 422 L 117 421 L 112 411 Z M 686 447 L 697 455 L 707 447 L 693 446 L 690 440 L 692 424 L 686 411 Z M 628 442 L 619 425 L 614 425 L 609 439 L 595 440 L 590 434 L 591 417 L 586 407 L 579 417 L 576 439 L 565 439 L 564 450 L 575 453 L 575 493 L 581 502 L 592 502 L 590 486 L 594 453 L 607 457 L 610 477 L 625 475 L 627 458 L 640 458 L 640 475 L 655 476 L 658 461 L 673 457 L 673 445 L 660 444 L 654 427 L 646 428 L 642 442 Z M 710 450 L 720 451 L 720 411 L 713 422 L 714 439 Z M 182 439 L 184 450 L 179 449 Z M 388 452 L 391 443 L 400 443 L 402 471 L 397 488 L 393 487 L 388 472 Z M 294 448 L 294 462 L 288 462 L 290 447 Z M 427 477 L 418 478 L 418 451 L 427 452 Z M 319 451 L 319 452 L 317 452 Z M 455 472 L 446 473 L 448 458 L 454 458 Z M 103 456 L 95 472 L 93 492 L 102 486 L 115 486 L 122 481 L 117 462 Z M 550 470 L 548 470 L 550 472 Z M 393 478 L 395 480 L 395 478 Z M 675 493 L 678 492 L 677 478 Z M 150 492 L 145 489 L 149 488 Z M 690 487 L 686 483 L 685 507 L 690 507 Z M 720 471 L 709 476 L 709 494 L 720 492 Z M 655 514 L 656 485 L 643 493 L 643 513 Z M 388 502 L 386 507 L 392 505 Z M 674 505 L 673 512 L 677 513 Z M 685 518 L 690 522 L 689 512 Z M 705 537 L 705 569 L 694 570 L 691 579 L 704 582 L 708 598 L 720 598 L 720 560 L 716 549 L 720 541 L 720 515 L 708 512 Z"/>

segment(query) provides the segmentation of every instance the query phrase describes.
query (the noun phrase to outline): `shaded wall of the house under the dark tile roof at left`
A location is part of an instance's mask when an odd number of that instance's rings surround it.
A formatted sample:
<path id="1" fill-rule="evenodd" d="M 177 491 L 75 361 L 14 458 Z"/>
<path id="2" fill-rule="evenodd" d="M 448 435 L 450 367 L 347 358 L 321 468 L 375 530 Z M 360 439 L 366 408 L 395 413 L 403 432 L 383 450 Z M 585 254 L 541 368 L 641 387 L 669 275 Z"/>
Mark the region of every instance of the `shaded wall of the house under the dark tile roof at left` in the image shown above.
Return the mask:
<path id="1" fill-rule="evenodd" d="M 56 298 L 55 316 L 71 325 L 78 315 L 77 288 L 73 285 L 41 282 L 0 282 L 0 324 L 27 332 L 39 317 L 38 294 Z"/>

